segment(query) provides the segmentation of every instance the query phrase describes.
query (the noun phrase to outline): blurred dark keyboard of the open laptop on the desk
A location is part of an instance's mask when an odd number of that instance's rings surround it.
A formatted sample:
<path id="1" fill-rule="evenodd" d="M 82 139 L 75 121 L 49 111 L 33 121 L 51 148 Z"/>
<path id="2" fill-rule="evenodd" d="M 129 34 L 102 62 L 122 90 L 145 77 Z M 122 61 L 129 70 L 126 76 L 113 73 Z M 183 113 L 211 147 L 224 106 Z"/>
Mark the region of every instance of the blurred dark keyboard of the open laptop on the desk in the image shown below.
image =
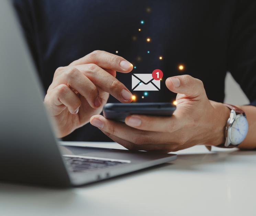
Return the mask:
<path id="1" fill-rule="evenodd" d="M 84 172 L 97 170 L 107 167 L 113 167 L 121 164 L 127 164 L 125 161 L 103 160 L 85 157 L 63 156 L 70 171 L 72 172 Z"/>

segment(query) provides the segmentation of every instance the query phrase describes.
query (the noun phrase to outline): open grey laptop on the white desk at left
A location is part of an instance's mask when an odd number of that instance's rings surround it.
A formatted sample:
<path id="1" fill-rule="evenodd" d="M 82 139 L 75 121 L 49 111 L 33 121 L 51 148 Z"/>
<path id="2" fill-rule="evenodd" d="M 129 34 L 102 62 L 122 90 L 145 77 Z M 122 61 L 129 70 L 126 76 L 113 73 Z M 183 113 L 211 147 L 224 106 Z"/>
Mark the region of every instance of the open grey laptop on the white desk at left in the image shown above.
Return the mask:
<path id="1" fill-rule="evenodd" d="M 71 187 L 176 159 L 174 154 L 60 145 L 10 0 L 0 1 L 0 32 L 0 181 Z"/>

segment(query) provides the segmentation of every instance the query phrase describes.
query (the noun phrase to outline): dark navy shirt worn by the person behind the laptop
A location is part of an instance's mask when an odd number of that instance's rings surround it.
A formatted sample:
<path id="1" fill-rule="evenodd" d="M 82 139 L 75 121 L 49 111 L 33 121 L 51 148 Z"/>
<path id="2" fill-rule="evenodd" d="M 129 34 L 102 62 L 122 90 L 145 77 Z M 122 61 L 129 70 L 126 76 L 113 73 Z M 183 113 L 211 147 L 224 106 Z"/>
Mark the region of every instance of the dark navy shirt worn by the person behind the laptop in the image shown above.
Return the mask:
<path id="1" fill-rule="evenodd" d="M 203 81 L 209 99 L 219 102 L 224 100 L 225 75 L 230 71 L 255 104 L 254 1 L 14 0 L 14 3 L 45 91 L 56 68 L 93 50 L 111 53 L 118 50 L 118 55 L 136 66 L 132 73 L 161 69 L 165 79 L 190 74 Z M 150 43 L 147 37 L 151 38 Z M 179 71 L 179 64 L 185 65 L 185 70 Z M 118 73 L 117 78 L 131 90 L 131 73 Z M 142 92 L 136 94 L 141 98 Z M 149 92 L 139 102 L 172 101 L 175 96 L 162 82 L 160 91 Z M 116 99 L 110 97 L 109 102 Z M 90 124 L 64 140 L 110 141 Z"/>

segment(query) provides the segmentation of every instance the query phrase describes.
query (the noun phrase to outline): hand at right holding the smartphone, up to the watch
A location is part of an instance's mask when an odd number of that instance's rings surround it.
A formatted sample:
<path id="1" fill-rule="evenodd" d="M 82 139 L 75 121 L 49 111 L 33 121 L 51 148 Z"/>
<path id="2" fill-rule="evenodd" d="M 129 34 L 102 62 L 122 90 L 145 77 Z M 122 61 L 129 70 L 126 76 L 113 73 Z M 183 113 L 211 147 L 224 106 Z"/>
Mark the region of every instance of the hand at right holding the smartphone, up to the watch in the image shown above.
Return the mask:
<path id="1" fill-rule="evenodd" d="M 90 123 L 113 141 L 133 150 L 171 152 L 196 144 L 224 142 L 230 110 L 207 98 L 202 81 L 181 75 L 169 77 L 166 86 L 178 93 L 177 109 L 171 117 L 132 115 L 123 123 L 95 115 Z"/>

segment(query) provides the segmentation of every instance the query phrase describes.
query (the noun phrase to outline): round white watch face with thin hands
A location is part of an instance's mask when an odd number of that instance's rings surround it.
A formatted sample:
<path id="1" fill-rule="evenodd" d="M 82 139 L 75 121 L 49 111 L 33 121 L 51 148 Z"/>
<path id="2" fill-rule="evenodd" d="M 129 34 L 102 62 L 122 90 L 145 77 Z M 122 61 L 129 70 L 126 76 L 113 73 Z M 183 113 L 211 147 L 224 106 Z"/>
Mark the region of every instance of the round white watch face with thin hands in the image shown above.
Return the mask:
<path id="1" fill-rule="evenodd" d="M 232 125 L 229 128 L 229 137 L 233 145 L 238 145 L 246 137 L 248 132 L 248 122 L 243 115 L 237 115 Z"/>

